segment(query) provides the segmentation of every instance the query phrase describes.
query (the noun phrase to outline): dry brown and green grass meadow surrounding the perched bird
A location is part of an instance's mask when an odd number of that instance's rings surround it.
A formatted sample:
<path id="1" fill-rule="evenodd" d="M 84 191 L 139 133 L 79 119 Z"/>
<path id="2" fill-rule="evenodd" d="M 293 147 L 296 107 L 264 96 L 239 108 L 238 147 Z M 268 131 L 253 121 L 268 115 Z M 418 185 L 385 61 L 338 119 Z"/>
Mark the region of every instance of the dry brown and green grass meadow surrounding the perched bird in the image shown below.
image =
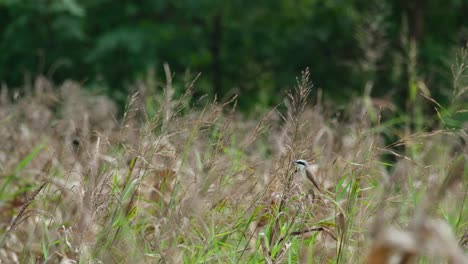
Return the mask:
<path id="1" fill-rule="evenodd" d="M 122 117 L 71 81 L 2 89 L 1 263 L 467 263 L 467 124 L 444 121 L 463 88 L 429 129 L 368 96 L 338 117 L 307 71 L 248 116 L 166 75 Z"/>

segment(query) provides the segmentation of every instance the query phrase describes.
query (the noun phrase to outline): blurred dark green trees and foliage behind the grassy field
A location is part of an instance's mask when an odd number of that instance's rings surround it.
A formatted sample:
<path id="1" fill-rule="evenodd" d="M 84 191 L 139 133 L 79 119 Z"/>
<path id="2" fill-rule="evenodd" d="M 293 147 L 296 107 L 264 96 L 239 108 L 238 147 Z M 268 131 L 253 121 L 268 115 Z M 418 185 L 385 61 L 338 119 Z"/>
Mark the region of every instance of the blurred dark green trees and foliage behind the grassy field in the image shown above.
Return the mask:
<path id="1" fill-rule="evenodd" d="M 0 0 L 0 81 L 45 74 L 118 97 L 151 68 L 163 80 L 167 62 L 250 109 L 281 102 L 309 67 L 337 100 L 367 84 L 404 105 L 423 81 L 443 101 L 466 14 L 466 0 Z"/>

